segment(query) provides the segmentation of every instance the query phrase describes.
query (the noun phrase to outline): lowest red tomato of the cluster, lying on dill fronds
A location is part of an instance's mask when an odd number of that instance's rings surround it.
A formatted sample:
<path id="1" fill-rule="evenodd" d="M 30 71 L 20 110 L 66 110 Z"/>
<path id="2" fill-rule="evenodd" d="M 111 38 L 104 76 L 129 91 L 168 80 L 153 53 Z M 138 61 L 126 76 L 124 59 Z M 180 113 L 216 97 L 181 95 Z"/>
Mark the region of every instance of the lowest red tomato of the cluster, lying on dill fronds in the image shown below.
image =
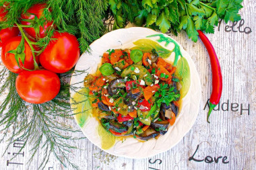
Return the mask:
<path id="1" fill-rule="evenodd" d="M 20 97 L 28 103 L 45 103 L 59 93 L 61 81 L 57 74 L 46 71 L 22 71 L 15 82 Z"/>

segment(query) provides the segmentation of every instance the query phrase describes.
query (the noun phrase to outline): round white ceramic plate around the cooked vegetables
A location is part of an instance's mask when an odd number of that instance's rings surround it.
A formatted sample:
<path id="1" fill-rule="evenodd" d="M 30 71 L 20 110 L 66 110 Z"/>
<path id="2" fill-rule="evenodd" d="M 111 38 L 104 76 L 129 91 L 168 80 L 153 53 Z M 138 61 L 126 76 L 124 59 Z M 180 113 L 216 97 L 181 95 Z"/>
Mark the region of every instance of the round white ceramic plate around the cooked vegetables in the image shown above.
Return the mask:
<path id="1" fill-rule="evenodd" d="M 75 70 L 84 71 L 86 70 L 88 73 L 95 73 L 98 65 L 101 62 L 101 57 L 104 52 L 108 49 L 117 49 L 117 48 L 130 48 L 134 46 L 133 42 L 139 40 L 141 38 L 146 38 L 147 36 L 151 36 L 154 34 L 160 34 L 159 32 L 155 32 L 154 30 L 148 28 L 125 28 L 115 30 L 113 32 L 109 32 L 105 34 L 95 42 L 90 45 L 91 52 L 82 54 L 77 62 Z M 168 37 L 166 34 L 162 34 L 165 37 Z M 151 40 L 158 40 L 159 37 L 152 37 Z M 167 48 L 168 50 L 172 50 L 174 48 L 173 43 L 169 43 L 167 46 L 165 42 L 159 43 L 162 47 Z M 187 59 L 190 69 L 190 79 L 191 85 L 189 87 L 189 91 L 187 95 L 183 97 L 183 105 L 181 108 L 181 112 L 179 116 L 177 116 L 177 120 L 174 126 L 168 128 L 168 132 L 164 135 L 160 135 L 160 137 L 156 140 L 152 138 L 147 142 L 139 142 L 139 140 L 135 138 L 127 138 L 124 141 L 116 140 L 115 145 L 106 151 L 112 155 L 120 156 L 120 157 L 128 157 L 128 158 L 146 158 L 152 157 L 158 153 L 162 153 L 168 151 L 170 148 L 175 146 L 182 138 L 185 136 L 187 132 L 192 128 L 197 114 L 199 112 L 199 103 L 201 99 L 201 83 L 199 79 L 199 74 L 196 71 L 195 64 L 193 60 L 189 56 L 185 50 L 180 46 L 181 54 L 184 58 Z M 174 60 L 174 52 L 170 55 L 167 60 L 173 62 Z M 83 73 L 82 75 L 72 76 L 71 77 L 71 85 L 79 89 L 84 88 L 84 77 L 86 77 L 87 73 Z M 75 95 L 75 91 L 71 90 L 71 96 Z M 84 108 L 84 110 L 86 110 Z M 86 116 L 86 111 L 84 112 L 84 116 Z M 87 117 L 87 116 L 86 116 Z M 80 119 L 83 120 L 83 118 Z M 86 135 L 86 137 L 96 146 L 102 148 L 100 136 L 98 136 L 97 128 L 98 121 L 96 118 L 92 116 L 88 116 L 86 121 L 81 123 L 79 118 L 75 116 L 75 120 L 77 124 L 82 129 L 82 132 Z"/>

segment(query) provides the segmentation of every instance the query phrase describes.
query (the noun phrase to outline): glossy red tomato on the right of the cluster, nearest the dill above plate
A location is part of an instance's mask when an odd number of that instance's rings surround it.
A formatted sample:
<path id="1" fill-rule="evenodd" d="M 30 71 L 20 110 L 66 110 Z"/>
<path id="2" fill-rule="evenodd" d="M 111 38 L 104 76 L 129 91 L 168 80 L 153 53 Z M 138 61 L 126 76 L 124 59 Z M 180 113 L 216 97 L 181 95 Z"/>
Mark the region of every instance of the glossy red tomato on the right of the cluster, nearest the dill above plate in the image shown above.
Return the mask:
<path id="1" fill-rule="evenodd" d="M 79 59 L 79 43 L 75 36 L 67 32 L 55 32 L 53 40 L 40 54 L 40 64 L 54 73 L 65 73 L 72 69 Z"/>

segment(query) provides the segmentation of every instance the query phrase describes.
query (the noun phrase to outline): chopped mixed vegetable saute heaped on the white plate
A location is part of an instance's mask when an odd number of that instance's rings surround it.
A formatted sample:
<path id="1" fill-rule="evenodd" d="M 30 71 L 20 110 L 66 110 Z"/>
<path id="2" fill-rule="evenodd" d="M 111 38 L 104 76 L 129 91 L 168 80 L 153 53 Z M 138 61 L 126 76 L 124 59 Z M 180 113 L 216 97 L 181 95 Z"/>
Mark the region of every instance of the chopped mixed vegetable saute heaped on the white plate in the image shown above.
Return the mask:
<path id="1" fill-rule="evenodd" d="M 108 50 L 96 75 L 87 75 L 94 116 L 115 136 L 149 140 L 166 134 L 179 113 L 175 67 L 156 50 Z"/>

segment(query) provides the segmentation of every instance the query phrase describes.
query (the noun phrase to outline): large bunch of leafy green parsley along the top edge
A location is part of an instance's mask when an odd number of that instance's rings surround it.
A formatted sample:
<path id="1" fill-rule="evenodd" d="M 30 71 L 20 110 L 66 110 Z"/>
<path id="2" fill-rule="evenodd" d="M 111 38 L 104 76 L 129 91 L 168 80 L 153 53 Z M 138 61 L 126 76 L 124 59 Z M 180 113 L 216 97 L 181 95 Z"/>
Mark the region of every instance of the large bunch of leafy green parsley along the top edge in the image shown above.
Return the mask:
<path id="1" fill-rule="evenodd" d="M 197 30 L 214 33 L 218 20 L 235 22 L 243 0 L 108 0 L 108 11 L 114 16 L 114 29 L 127 22 L 163 33 L 185 30 L 197 42 Z"/>

